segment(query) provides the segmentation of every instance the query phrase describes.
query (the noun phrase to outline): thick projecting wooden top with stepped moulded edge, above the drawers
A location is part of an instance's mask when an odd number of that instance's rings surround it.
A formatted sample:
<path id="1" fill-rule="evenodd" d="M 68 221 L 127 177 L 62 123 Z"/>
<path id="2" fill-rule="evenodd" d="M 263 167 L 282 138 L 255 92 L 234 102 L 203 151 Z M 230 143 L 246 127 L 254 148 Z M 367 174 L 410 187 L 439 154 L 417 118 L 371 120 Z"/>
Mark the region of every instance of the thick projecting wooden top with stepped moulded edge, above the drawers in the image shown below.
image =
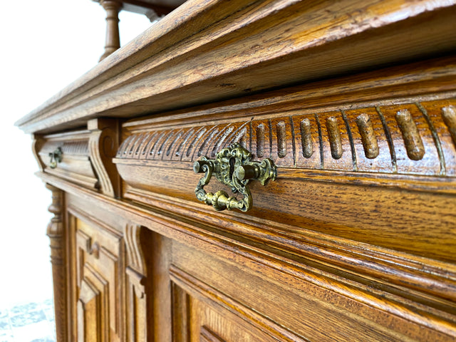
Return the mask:
<path id="1" fill-rule="evenodd" d="M 455 1 L 190 0 L 16 123 L 133 118 L 441 56 Z"/>

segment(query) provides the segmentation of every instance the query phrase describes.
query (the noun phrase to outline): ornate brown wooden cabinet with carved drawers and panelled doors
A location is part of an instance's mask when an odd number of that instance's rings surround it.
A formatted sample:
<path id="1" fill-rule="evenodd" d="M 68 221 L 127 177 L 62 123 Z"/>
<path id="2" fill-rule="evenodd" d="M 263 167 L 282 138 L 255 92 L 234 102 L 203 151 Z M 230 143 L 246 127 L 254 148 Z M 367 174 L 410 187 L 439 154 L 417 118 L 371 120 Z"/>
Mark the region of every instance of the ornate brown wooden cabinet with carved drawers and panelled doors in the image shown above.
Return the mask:
<path id="1" fill-rule="evenodd" d="M 456 341 L 455 19 L 190 0 L 19 120 L 57 341 Z"/>

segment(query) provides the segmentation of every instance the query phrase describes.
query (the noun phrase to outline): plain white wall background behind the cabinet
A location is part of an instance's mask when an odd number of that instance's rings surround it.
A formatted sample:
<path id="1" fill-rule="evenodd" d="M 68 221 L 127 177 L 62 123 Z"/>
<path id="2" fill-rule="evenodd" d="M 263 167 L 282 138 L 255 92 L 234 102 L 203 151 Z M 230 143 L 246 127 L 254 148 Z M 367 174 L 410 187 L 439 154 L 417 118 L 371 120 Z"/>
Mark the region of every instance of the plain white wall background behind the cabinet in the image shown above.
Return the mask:
<path id="1" fill-rule="evenodd" d="M 120 13 L 124 45 L 150 26 Z M 14 122 L 90 70 L 103 53 L 105 11 L 90 0 L 4 1 L 0 11 L 0 309 L 51 298 L 46 226 L 51 192 L 33 175 L 31 138 Z"/>

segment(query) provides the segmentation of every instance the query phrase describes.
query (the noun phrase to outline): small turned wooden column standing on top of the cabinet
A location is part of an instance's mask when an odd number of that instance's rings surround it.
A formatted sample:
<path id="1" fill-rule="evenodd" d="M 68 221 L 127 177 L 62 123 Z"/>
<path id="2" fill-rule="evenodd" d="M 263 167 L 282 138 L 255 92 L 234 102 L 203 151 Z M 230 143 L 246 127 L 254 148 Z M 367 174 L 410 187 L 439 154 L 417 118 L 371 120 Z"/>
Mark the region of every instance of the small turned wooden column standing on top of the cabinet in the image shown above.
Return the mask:
<path id="1" fill-rule="evenodd" d="M 100 61 L 120 48 L 119 37 L 119 11 L 122 2 L 118 0 L 101 0 L 101 6 L 106 11 L 106 42 L 105 53 L 100 57 Z"/>

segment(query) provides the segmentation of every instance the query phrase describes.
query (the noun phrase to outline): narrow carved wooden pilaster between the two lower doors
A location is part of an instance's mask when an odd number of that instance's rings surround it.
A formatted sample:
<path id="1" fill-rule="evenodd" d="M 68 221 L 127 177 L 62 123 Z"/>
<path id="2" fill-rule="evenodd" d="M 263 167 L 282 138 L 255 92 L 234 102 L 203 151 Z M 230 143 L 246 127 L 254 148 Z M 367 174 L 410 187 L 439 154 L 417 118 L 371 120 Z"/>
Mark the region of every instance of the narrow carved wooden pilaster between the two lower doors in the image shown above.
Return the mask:
<path id="1" fill-rule="evenodd" d="M 128 342 L 147 341 L 147 308 L 145 295 L 145 259 L 140 241 L 141 226 L 125 227 L 127 251 Z"/>

